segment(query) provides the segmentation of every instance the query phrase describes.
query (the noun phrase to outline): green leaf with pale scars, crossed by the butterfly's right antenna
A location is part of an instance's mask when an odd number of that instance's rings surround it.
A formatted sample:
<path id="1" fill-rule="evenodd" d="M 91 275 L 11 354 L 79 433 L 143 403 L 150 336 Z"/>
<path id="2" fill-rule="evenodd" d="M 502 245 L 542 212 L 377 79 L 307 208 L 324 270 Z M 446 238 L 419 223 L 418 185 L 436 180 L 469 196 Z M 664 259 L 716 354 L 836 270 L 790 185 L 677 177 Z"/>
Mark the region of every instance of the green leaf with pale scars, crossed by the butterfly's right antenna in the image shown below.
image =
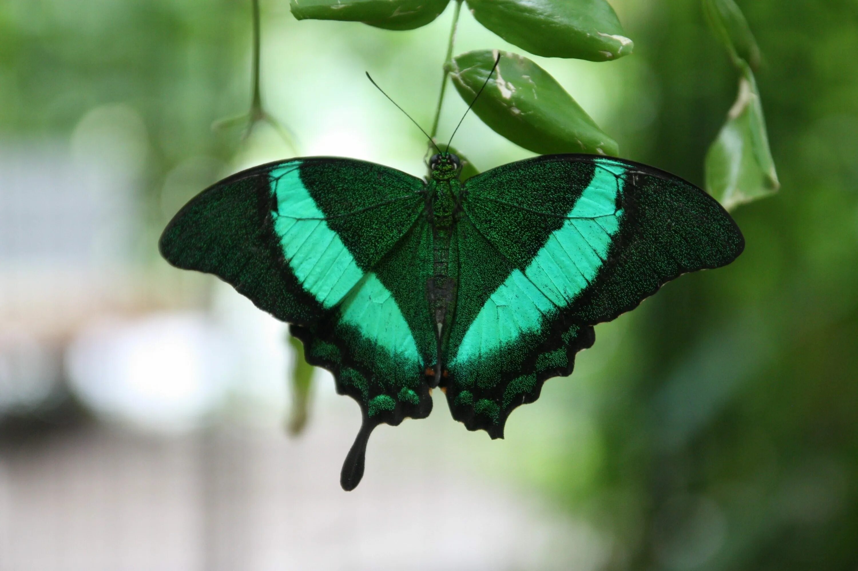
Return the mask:
<path id="1" fill-rule="evenodd" d="M 450 78 L 468 104 L 497 57 L 498 51 L 468 51 L 450 62 Z M 618 153 L 616 141 L 545 69 L 518 54 L 500 52 L 498 69 L 473 109 L 498 135 L 534 153 Z"/>

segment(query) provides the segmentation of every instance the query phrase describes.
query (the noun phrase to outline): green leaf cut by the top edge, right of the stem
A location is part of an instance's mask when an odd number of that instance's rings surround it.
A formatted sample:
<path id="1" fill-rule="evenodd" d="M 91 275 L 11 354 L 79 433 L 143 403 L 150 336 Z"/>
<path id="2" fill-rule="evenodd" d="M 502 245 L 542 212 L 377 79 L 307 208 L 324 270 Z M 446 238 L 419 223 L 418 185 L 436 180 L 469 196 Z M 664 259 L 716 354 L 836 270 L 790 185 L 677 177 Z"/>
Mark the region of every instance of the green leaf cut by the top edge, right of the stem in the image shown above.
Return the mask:
<path id="1" fill-rule="evenodd" d="M 634 47 L 606 0 L 468 0 L 468 7 L 480 24 L 537 56 L 604 62 Z"/>

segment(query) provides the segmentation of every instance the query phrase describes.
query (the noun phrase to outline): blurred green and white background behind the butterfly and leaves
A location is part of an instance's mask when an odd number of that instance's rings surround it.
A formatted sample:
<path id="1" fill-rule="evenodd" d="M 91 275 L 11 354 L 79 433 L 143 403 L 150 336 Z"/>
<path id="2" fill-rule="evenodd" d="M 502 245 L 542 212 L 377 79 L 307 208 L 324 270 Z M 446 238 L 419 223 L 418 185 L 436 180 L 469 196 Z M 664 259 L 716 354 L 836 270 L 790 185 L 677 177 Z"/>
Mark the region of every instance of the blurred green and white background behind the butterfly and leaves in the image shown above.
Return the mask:
<path id="1" fill-rule="evenodd" d="M 858 568 L 858 16 L 740 2 L 779 195 L 746 252 L 596 328 L 505 441 L 360 425 L 317 371 L 283 426 L 285 327 L 157 254 L 191 196 L 297 154 L 425 173 L 452 8 L 412 32 L 263 2 L 263 97 L 291 129 L 213 131 L 250 99 L 249 2 L 0 3 L 0 570 Z M 736 77 L 680 0 L 614 0 L 635 53 L 544 59 L 622 156 L 703 183 Z M 517 51 L 462 11 L 456 52 Z M 441 135 L 464 111 L 448 90 Z M 529 156 L 465 119 L 485 170 Z"/>

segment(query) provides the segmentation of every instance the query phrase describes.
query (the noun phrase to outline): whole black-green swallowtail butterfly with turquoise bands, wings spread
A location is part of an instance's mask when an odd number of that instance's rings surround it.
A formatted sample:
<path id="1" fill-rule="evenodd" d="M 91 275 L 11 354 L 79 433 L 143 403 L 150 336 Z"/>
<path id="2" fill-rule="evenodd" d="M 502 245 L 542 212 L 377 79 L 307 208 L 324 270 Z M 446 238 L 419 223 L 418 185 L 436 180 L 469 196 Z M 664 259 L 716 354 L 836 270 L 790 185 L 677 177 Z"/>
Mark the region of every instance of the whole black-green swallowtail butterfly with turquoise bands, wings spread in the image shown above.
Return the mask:
<path id="1" fill-rule="evenodd" d="M 308 362 L 360 403 L 347 490 L 372 429 L 425 418 L 431 388 L 469 430 L 502 437 L 596 323 L 744 247 L 716 201 L 649 166 L 542 156 L 463 183 L 457 167 L 436 155 L 422 181 L 353 159 L 262 165 L 204 190 L 161 237 L 173 265 L 291 323 Z"/>

